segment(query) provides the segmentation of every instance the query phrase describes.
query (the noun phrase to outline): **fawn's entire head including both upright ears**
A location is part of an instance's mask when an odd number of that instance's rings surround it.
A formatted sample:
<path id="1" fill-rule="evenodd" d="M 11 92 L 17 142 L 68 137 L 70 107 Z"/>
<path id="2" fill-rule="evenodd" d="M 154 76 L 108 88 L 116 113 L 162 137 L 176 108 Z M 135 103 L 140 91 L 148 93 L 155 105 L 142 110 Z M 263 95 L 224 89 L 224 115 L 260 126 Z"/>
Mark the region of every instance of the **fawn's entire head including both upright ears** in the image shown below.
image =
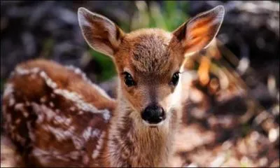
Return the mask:
<path id="1" fill-rule="evenodd" d="M 173 32 L 139 29 L 125 33 L 108 18 L 85 8 L 78 9 L 78 20 L 90 47 L 109 55 L 116 64 L 120 94 L 134 116 L 158 125 L 179 102 L 184 55 L 207 48 L 221 27 L 224 13 L 223 6 L 217 6 Z"/>

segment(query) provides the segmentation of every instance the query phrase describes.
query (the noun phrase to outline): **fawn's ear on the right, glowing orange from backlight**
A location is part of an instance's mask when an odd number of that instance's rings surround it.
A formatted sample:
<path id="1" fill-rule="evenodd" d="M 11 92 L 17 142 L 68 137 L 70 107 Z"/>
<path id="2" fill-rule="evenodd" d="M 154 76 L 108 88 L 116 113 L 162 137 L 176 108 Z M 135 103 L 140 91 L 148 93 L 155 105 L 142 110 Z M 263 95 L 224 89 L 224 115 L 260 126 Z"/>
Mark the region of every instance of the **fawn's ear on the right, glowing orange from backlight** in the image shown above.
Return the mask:
<path id="1" fill-rule="evenodd" d="M 173 31 L 174 36 L 183 44 L 185 53 L 207 48 L 218 34 L 224 15 L 225 9 L 223 6 L 216 6 L 196 15 Z"/>

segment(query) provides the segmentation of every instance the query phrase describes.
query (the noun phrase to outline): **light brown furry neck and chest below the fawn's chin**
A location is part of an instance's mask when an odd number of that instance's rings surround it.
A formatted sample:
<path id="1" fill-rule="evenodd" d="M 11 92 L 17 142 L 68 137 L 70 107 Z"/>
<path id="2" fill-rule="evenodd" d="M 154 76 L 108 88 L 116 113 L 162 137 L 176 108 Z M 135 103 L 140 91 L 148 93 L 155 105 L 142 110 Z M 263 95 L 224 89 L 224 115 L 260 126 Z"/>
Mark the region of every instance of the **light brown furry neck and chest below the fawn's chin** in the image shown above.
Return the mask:
<path id="1" fill-rule="evenodd" d="M 162 125 L 149 127 L 125 98 L 118 97 L 109 130 L 108 157 L 112 167 L 162 167 L 172 153 L 176 111 Z"/>

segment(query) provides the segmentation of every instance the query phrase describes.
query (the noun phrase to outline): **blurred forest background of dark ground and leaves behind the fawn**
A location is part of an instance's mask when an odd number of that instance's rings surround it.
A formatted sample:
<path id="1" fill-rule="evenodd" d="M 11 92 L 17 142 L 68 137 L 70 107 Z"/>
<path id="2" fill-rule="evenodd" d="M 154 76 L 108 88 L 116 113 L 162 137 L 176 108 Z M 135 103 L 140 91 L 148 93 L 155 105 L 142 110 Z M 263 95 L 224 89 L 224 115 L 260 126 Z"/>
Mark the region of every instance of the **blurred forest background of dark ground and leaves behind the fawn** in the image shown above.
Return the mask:
<path id="1" fill-rule="evenodd" d="M 173 31 L 218 5 L 225 18 L 216 41 L 186 63 L 197 78 L 174 165 L 279 167 L 279 1 L 1 1 L 1 99 L 15 65 L 38 57 L 78 66 L 116 97 L 113 62 L 85 43 L 79 7 L 129 32 Z"/>

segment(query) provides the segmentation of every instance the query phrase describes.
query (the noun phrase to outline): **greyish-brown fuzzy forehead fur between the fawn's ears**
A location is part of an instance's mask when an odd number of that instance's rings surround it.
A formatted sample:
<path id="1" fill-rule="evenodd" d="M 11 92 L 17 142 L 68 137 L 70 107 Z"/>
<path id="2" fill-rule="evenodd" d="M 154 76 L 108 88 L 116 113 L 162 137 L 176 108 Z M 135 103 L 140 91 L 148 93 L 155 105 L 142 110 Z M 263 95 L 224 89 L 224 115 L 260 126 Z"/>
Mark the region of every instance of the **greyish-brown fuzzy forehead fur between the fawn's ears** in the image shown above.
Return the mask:
<path id="1" fill-rule="evenodd" d="M 136 71 L 164 73 L 169 68 L 172 34 L 161 29 L 140 29 L 127 36 L 130 61 Z"/>

